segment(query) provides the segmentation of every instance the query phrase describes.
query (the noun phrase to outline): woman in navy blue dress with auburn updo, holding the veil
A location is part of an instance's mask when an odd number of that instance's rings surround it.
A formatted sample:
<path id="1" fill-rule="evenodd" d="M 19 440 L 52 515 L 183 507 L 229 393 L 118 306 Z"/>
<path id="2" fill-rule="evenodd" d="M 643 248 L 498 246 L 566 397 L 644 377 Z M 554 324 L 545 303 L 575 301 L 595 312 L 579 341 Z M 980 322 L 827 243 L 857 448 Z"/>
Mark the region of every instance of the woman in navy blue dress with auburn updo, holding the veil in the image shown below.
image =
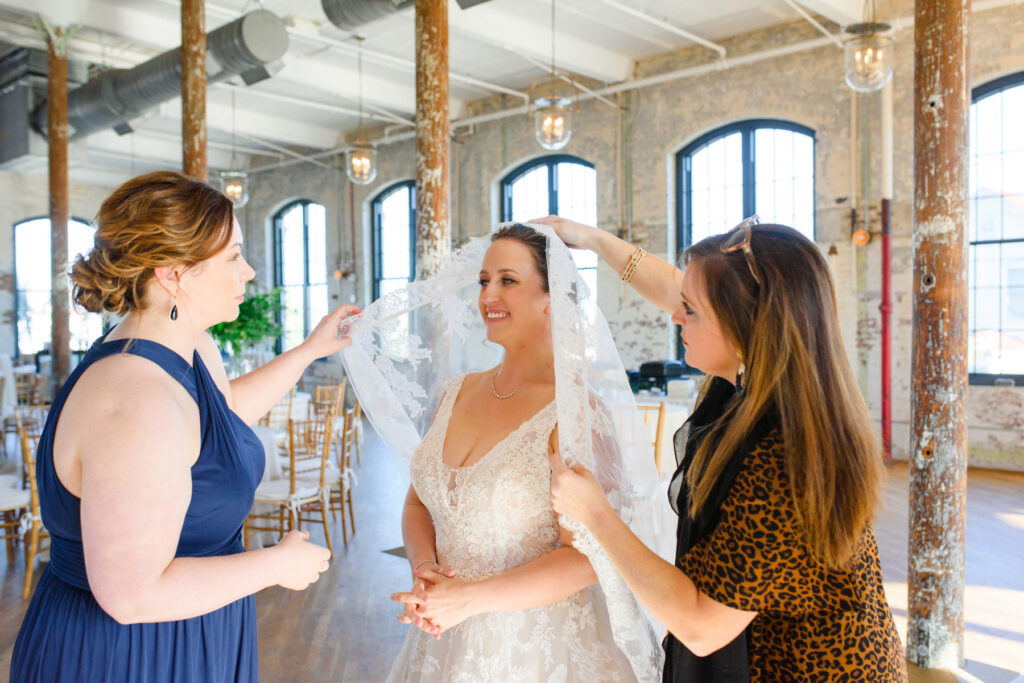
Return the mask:
<path id="1" fill-rule="evenodd" d="M 302 590 L 330 553 L 292 531 L 245 552 L 263 472 L 253 424 L 314 358 L 347 345 L 342 306 L 299 346 L 228 382 L 211 325 L 254 276 L 231 202 L 160 171 L 103 202 L 71 278 L 86 309 L 124 315 L 54 399 L 37 457 L 50 563 L 12 681 L 256 681 L 253 594 Z"/>

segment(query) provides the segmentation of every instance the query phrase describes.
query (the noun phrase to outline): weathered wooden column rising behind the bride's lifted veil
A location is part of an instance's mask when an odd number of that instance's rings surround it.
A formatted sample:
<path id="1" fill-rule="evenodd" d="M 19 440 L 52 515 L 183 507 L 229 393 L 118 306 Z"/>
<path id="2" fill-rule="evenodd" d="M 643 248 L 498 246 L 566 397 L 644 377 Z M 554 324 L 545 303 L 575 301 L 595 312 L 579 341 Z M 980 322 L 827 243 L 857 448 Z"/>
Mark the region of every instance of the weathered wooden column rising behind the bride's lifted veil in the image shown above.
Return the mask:
<path id="1" fill-rule="evenodd" d="M 416 271 L 437 272 L 452 252 L 449 216 L 447 2 L 416 0 Z"/>

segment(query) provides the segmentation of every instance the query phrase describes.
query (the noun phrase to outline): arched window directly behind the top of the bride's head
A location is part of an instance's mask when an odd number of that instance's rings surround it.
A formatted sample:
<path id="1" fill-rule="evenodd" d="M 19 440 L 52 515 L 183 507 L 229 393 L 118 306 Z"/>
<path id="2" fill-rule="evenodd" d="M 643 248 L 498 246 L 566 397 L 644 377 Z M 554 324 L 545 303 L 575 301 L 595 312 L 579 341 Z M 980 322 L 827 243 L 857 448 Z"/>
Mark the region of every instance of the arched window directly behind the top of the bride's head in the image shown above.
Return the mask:
<path id="1" fill-rule="evenodd" d="M 529 220 L 548 214 L 597 225 L 597 172 L 570 155 L 551 155 L 518 167 L 502 180 L 502 220 Z M 597 255 L 572 251 L 580 274 L 597 293 Z"/>

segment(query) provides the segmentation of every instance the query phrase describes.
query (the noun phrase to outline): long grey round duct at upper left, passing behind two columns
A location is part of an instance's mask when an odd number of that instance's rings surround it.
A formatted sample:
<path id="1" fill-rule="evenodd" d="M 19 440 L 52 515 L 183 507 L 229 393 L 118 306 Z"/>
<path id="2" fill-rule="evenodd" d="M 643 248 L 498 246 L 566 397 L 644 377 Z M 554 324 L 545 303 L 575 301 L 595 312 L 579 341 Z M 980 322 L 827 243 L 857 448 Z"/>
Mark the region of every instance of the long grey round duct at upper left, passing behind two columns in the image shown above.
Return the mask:
<path id="1" fill-rule="evenodd" d="M 207 34 L 207 82 L 241 75 L 246 85 L 269 78 L 288 49 L 288 31 L 273 12 L 259 9 Z M 181 94 L 181 48 L 132 69 L 111 69 L 68 93 L 71 139 L 106 128 L 131 132 L 129 122 Z M 46 135 L 46 101 L 32 113 L 32 127 Z"/>

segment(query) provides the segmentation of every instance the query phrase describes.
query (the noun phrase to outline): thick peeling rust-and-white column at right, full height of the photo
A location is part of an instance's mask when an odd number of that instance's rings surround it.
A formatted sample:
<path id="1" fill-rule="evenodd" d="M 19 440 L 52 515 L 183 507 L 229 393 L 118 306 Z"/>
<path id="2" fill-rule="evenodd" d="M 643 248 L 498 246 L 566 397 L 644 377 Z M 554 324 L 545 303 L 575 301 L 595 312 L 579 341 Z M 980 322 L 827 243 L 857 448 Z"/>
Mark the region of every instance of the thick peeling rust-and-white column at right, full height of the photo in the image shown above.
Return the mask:
<path id="1" fill-rule="evenodd" d="M 970 0 L 914 7 L 907 659 L 964 661 Z"/>

